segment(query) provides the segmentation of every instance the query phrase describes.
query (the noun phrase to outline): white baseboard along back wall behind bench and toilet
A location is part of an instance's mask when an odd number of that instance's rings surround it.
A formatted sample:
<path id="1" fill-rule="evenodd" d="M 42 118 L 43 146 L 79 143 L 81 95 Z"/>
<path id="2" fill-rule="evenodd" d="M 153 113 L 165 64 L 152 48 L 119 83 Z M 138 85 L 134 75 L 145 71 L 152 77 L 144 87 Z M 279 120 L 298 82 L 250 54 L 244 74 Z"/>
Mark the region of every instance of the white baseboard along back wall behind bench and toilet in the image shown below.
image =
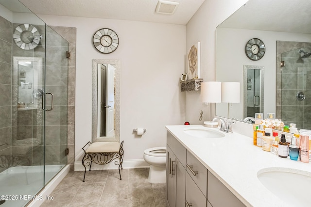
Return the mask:
<path id="1" fill-rule="evenodd" d="M 149 168 L 150 165 L 147 162 L 145 162 L 144 159 L 127 159 L 127 160 L 123 160 L 122 167 L 123 169 Z M 119 168 L 119 165 L 115 165 L 114 161 L 112 161 L 104 165 L 98 165 L 98 164 L 92 163 L 91 170 L 114 170 L 118 168 Z M 82 165 L 81 161 L 74 162 L 74 171 L 84 171 L 84 170 L 85 168 Z M 86 166 L 86 170 L 89 170 L 89 166 Z"/>

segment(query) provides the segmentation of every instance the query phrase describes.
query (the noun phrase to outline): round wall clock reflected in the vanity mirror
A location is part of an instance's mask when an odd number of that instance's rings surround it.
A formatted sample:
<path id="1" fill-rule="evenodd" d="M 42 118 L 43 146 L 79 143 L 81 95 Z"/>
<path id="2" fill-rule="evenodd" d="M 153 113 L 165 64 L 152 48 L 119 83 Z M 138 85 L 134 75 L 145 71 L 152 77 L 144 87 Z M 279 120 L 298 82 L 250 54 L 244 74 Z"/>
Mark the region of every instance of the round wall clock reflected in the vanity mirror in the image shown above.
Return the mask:
<path id="1" fill-rule="evenodd" d="M 252 61 L 261 59 L 266 51 L 264 43 L 258 38 L 249 40 L 245 46 L 246 56 Z"/>

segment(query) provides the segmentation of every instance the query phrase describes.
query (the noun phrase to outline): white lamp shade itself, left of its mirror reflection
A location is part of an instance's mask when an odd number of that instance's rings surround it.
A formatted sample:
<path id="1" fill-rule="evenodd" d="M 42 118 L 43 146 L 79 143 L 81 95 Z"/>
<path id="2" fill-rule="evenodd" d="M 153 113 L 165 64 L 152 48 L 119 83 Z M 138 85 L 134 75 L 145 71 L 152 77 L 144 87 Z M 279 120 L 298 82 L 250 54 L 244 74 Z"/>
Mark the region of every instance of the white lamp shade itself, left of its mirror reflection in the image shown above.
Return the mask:
<path id="1" fill-rule="evenodd" d="M 201 99 L 203 103 L 220 103 L 222 101 L 222 83 L 217 81 L 201 82 Z"/>

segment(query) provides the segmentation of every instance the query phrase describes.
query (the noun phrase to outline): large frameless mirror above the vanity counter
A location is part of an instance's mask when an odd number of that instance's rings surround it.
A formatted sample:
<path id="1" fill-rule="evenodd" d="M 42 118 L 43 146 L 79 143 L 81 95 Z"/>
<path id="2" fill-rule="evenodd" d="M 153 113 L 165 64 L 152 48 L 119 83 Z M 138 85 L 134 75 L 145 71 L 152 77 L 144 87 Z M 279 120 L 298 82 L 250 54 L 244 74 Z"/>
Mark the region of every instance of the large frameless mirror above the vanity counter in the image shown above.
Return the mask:
<path id="1" fill-rule="evenodd" d="M 299 53 L 299 50 L 309 53 L 306 48 L 311 46 L 311 1 L 245 0 L 245 2 L 240 9 L 228 16 L 216 28 L 216 80 L 221 82 L 238 81 L 241 86 L 247 85 L 248 80 L 244 76 L 244 66 L 262 66 L 264 68 L 262 89 L 264 89 L 265 93 L 259 97 L 255 95 L 255 99 L 251 98 L 252 101 L 250 102 L 255 100 L 256 105 L 260 103 L 261 106 L 263 104 L 260 108 L 263 108 L 264 118 L 267 118 L 267 113 L 276 113 L 276 118 L 284 120 L 286 125 L 296 123 L 298 128 L 311 128 L 311 124 L 308 126 L 308 123 L 311 123 L 310 118 L 307 119 L 307 116 L 297 115 L 297 111 L 301 111 L 299 105 L 308 105 L 308 96 L 305 96 L 302 101 L 298 101 L 296 100 L 296 94 L 299 91 L 294 91 L 298 88 L 300 91 L 304 90 L 304 93 L 309 92 L 308 88 L 299 88 L 299 85 L 295 85 L 295 82 L 293 82 L 298 80 L 294 78 L 294 74 L 299 76 L 299 71 L 302 71 L 301 64 L 300 66 L 291 64 L 293 61 L 302 63 L 303 60 L 305 68 L 308 67 L 306 66 L 307 61 L 304 54 Z M 250 18 L 254 11 L 260 13 L 256 21 Z M 264 56 L 257 61 L 250 60 L 245 54 L 245 45 L 252 38 L 259 38 L 266 47 Z M 281 67 L 280 64 L 284 53 L 278 51 L 298 52 L 293 52 L 294 56 L 291 56 L 291 59 L 295 58 L 295 60 L 286 61 L 286 66 Z M 304 73 L 308 73 L 306 70 L 304 70 Z M 289 79 L 289 77 L 293 78 Z M 251 87 L 253 86 L 249 86 L 249 90 L 241 87 L 241 102 L 232 105 L 229 118 L 243 120 L 250 115 L 245 106 L 252 103 L 245 103 L 245 101 L 248 100 L 247 96 L 248 92 L 251 91 Z M 293 98 L 287 97 L 289 95 L 284 93 L 285 89 L 293 92 Z M 254 107 L 254 110 L 256 107 Z M 291 115 L 289 115 L 289 112 L 291 112 Z M 216 115 L 227 117 L 227 109 L 223 103 L 216 104 Z M 284 115 L 286 115 L 286 118 Z M 309 117 L 311 116 L 309 115 Z M 302 118 L 308 121 L 302 122 L 302 120 L 299 120 Z"/>

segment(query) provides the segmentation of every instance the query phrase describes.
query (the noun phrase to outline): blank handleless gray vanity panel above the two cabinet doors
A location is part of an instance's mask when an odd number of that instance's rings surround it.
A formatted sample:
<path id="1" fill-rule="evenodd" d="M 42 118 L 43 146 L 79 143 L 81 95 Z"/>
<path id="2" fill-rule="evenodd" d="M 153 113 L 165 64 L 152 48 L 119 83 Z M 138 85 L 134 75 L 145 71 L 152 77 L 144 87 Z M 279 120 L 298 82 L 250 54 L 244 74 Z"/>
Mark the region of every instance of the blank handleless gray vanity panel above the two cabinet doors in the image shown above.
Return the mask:
<path id="1" fill-rule="evenodd" d="M 186 148 L 169 131 L 166 133 L 166 143 L 170 146 L 180 163 L 186 168 Z"/>

